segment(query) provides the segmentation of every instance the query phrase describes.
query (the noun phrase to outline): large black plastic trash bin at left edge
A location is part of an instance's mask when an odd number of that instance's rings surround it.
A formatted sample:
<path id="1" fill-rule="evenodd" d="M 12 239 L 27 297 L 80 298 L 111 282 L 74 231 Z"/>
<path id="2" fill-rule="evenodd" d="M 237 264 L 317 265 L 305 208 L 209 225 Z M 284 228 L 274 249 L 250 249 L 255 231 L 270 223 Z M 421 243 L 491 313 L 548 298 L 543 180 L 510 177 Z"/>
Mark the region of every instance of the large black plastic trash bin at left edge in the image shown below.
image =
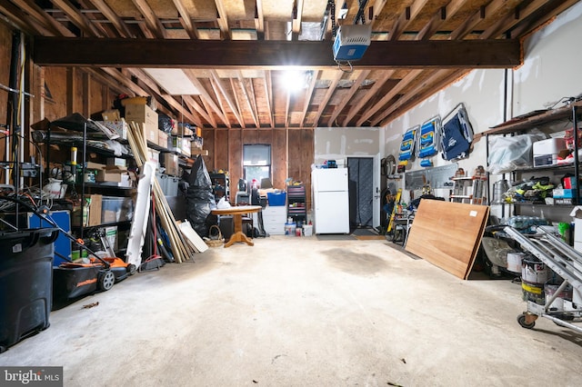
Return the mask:
<path id="1" fill-rule="evenodd" d="M 56 228 L 0 232 L 0 352 L 48 328 Z"/>

